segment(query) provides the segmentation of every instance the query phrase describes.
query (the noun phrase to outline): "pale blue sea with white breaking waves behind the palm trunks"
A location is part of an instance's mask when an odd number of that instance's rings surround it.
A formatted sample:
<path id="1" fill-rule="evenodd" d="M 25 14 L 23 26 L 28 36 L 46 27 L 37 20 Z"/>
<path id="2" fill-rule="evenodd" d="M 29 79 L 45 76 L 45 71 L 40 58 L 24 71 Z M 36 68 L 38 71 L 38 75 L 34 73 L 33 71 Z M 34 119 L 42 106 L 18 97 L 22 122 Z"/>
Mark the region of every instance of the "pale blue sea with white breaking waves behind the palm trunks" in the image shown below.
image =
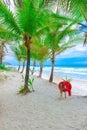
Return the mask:
<path id="1" fill-rule="evenodd" d="M 43 67 L 43 74 L 50 75 L 51 67 Z M 35 74 L 39 73 L 39 67 L 36 67 Z M 70 79 L 76 79 L 81 81 L 87 81 L 87 68 L 75 68 L 75 67 L 54 67 L 54 76 L 61 76 Z"/>

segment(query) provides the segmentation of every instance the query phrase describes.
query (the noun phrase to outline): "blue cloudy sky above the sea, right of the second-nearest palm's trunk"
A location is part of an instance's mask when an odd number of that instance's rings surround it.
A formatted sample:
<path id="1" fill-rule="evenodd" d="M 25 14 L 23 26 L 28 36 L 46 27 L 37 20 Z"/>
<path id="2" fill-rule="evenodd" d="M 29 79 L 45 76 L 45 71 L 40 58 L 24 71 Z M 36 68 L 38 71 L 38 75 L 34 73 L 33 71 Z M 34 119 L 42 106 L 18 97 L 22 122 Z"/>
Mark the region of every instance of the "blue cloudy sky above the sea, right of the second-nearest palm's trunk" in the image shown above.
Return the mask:
<path id="1" fill-rule="evenodd" d="M 87 67 L 87 46 L 78 45 L 57 56 L 56 65 L 66 67 Z"/>

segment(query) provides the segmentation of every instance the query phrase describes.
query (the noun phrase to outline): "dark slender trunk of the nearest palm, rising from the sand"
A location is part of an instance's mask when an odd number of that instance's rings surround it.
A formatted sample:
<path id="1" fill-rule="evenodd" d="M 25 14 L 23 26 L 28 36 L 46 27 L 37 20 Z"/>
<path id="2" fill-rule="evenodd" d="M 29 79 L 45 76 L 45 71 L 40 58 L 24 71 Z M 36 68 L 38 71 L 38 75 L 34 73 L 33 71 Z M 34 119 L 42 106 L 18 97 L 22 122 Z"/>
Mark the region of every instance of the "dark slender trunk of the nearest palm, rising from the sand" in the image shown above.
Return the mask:
<path id="1" fill-rule="evenodd" d="M 30 48 L 27 48 L 27 65 L 26 65 L 25 84 L 24 84 L 24 88 L 26 91 L 29 91 L 28 89 L 29 70 L 30 70 Z"/>

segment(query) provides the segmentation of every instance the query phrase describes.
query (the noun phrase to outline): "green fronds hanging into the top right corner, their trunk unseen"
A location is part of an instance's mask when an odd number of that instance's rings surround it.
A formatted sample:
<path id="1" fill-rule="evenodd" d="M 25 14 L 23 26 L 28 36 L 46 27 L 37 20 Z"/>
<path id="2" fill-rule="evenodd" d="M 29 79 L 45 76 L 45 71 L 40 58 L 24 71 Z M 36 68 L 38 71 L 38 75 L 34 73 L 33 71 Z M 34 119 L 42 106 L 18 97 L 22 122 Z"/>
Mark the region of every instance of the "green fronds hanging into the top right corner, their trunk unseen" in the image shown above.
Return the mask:
<path id="1" fill-rule="evenodd" d="M 78 21 L 87 21 L 87 2 L 86 0 L 59 0 L 71 16 L 78 18 Z"/>

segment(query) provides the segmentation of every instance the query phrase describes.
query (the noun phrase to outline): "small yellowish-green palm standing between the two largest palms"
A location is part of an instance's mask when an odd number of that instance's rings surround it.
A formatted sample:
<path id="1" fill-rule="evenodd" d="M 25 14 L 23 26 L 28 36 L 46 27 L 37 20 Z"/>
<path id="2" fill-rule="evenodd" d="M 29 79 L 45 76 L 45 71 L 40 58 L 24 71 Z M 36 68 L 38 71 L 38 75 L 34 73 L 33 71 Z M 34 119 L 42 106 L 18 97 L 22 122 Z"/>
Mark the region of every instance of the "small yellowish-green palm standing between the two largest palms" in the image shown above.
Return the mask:
<path id="1" fill-rule="evenodd" d="M 43 71 L 43 62 L 48 58 L 48 49 L 43 44 L 41 37 L 39 39 L 33 39 L 33 46 L 31 47 L 31 57 L 32 59 L 34 59 L 34 61 L 38 61 L 40 63 L 40 71 L 38 77 L 41 78 Z"/>

